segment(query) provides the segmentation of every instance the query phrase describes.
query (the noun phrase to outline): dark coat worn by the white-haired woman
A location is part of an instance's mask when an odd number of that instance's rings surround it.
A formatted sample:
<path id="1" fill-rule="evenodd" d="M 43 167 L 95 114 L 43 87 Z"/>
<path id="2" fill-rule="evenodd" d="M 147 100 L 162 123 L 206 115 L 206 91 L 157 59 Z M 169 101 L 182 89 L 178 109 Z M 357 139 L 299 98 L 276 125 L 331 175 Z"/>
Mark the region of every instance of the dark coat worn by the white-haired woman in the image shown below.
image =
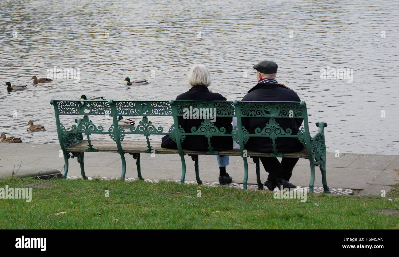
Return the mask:
<path id="1" fill-rule="evenodd" d="M 192 100 L 192 101 L 226 101 L 226 98 L 219 93 L 211 93 L 205 86 L 194 86 L 186 93 L 182 93 L 176 100 Z M 185 132 L 191 133 L 191 128 L 198 128 L 201 125 L 203 119 L 183 119 L 183 117 L 178 117 L 179 125 L 182 126 Z M 233 126 L 231 125 L 231 117 L 217 117 L 215 125 L 217 128 L 225 128 L 226 134 L 230 134 Z M 224 151 L 233 149 L 233 139 L 231 136 L 212 136 L 211 143 L 213 150 Z M 162 148 L 173 148 L 177 149 L 177 144 L 166 135 L 162 138 Z M 194 151 L 208 151 L 208 141 L 205 136 L 186 136 L 182 142 L 183 149 L 194 150 Z"/>

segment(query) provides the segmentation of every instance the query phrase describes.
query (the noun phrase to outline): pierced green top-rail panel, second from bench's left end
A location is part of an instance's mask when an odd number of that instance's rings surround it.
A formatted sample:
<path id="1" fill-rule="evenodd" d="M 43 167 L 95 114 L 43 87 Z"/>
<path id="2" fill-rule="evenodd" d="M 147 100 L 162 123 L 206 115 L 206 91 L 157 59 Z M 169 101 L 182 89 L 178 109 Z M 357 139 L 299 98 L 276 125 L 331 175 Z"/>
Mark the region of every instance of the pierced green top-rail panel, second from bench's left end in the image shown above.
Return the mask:
<path id="1" fill-rule="evenodd" d="M 167 101 L 116 101 L 117 115 L 172 115 L 172 107 Z"/>

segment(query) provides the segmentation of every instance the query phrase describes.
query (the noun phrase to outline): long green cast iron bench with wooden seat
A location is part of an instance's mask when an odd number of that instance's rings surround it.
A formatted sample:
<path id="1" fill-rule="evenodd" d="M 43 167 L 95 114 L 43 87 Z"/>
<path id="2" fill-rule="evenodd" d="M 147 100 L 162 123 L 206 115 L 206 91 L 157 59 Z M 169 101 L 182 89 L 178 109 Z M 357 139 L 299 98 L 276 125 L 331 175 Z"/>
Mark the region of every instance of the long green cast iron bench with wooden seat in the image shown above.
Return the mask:
<path id="1" fill-rule="evenodd" d="M 322 183 L 325 193 L 330 193 L 326 180 L 326 144 L 324 139 L 324 128 L 327 123 L 318 122 L 318 132 L 314 136 L 310 136 L 308 127 L 308 115 L 306 104 L 302 102 L 271 102 L 271 101 L 91 101 L 91 100 L 51 100 L 50 103 L 54 107 L 55 121 L 57 126 L 57 134 L 63 157 L 65 161 L 63 178 L 68 173 L 68 159 L 77 157 L 80 164 L 81 175 L 87 179 L 84 169 L 84 153 L 85 152 L 115 152 L 120 154 L 122 162 L 121 179 L 124 179 L 126 173 L 125 153 L 131 154 L 136 160 L 137 175 L 139 179 L 143 179 L 140 169 L 140 154 L 158 153 L 158 154 L 178 154 L 182 162 L 181 183 L 184 183 L 186 176 L 186 162 L 184 155 L 192 156 L 194 168 L 196 172 L 196 180 L 199 184 L 202 181 L 198 172 L 198 155 L 229 155 L 241 156 L 244 162 L 244 189 L 247 189 L 248 180 L 248 163 L 247 158 L 253 158 L 255 162 L 255 170 L 257 175 L 257 183 L 259 189 L 263 189 L 259 171 L 259 157 L 288 157 L 288 158 L 305 158 L 310 162 L 310 191 L 313 192 L 314 187 L 314 170 L 315 165 L 320 165 L 322 173 Z M 237 126 L 233 128 L 231 133 L 226 133 L 225 128 L 217 128 L 209 119 L 204 119 L 201 125 L 196 128 L 192 127 L 191 131 L 184 131 L 178 125 L 178 117 L 184 116 L 184 109 L 216 109 L 216 119 L 218 117 L 237 117 Z M 83 117 L 75 119 L 71 129 L 66 129 L 60 123 L 60 115 L 83 115 Z M 90 120 L 91 116 L 109 116 L 112 117 L 108 121 L 109 128 L 104 126 L 96 126 Z M 130 128 L 124 128 L 118 125 L 117 118 L 124 117 L 142 117 L 140 124 Z M 149 120 L 151 117 L 172 117 L 173 124 L 166 131 L 161 126 L 155 126 Z M 268 117 L 269 122 L 263 128 L 257 128 L 255 134 L 250 134 L 245 127 L 241 125 L 241 117 Z M 302 118 L 304 126 L 297 135 L 292 134 L 290 129 L 284 131 L 275 121 L 275 118 Z M 91 140 L 91 134 L 106 134 L 112 140 Z M 83 138 L 85 135 L 85 138 Z M 143 135 L 146 141 L 128 141 L 124 140 L 126 135 Z M 150 141 L 150 135 L 169 135 L 176 142 L 178 149 L 161 148 L 161 142 Z M 205 136 L 208 142 L 207 151 L 191 151 L 182 148 L 182 142 L 186 136 Z M 212 136 L 229 136 L 237 144 L 240 149 L 232 149 L 228 151 L 215 151 L 211 144 Z M 272 153 L 260 153 L 245 149 L 245 143 L 250 137 L 269 137 L 273 142 Z M 305 147 L 300 152 L 279 153 L 275 139 L 278 137 L 297 138 Z"/>

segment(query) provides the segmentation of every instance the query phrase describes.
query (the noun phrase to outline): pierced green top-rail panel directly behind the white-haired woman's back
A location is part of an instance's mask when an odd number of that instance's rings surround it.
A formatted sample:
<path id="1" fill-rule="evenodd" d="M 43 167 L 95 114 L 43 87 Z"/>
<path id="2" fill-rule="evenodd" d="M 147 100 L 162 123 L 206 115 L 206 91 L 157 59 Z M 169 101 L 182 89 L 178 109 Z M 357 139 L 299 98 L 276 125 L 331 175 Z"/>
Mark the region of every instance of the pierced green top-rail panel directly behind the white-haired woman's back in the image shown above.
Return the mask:
<path id="1" fill-rule="evenodd" d="M 184 109 L 190 107 L 200 109 L 216 109 L 216 116 L 234 116 L 234 104 L 233 102 L 221 102 L 221 101 L 176 101 L 178 115 L 184 114 Z"/>

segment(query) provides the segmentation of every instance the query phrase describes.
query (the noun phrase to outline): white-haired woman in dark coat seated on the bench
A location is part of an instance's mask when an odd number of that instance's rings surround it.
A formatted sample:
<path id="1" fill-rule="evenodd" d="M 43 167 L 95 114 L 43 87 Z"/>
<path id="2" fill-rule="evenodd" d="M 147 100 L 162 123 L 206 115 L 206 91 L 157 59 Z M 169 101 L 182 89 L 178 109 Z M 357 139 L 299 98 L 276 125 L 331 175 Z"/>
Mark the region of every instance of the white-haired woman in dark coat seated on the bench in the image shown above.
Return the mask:
<path id="1" fill-rule="evenodd" d="M 180 94 L 176 100 L 194 100 L 194 101 L 225 101 L 226 98 L 219 93 L 212 93 L 208 86 L 211 84 L 211 74 L 209 70 L 202 64 L 195 64 L 188 74 L 188 82 L 191 85 L 190 90 Z M 192 127 L 198 128 L 203 119 L 184 119 L 178 117 L 179 125 L 184 131 L 191 131 Z M 213 123 L 217 128 L 225 128 L 226 133 L 231 133 L 233 126 L 231 125 L 231 117 L 219 117 Z M 233 149 L 233 140 L 228 136 L 212 136 L 212 147 L 215 151 L 225 151 Z M 205 136 L 186 136 L 182 143 L 183 149 L 207 151 L 208 142 Z M 177 149 L 177 145 L 167 135 L 162 138 L 163 148 Z M 229 156 L 216 156 L 219 165 L 219 183 L 225 185 L 231 183 L 232 177 L 226 172 L 226 166 L 229 165 Z"/>

